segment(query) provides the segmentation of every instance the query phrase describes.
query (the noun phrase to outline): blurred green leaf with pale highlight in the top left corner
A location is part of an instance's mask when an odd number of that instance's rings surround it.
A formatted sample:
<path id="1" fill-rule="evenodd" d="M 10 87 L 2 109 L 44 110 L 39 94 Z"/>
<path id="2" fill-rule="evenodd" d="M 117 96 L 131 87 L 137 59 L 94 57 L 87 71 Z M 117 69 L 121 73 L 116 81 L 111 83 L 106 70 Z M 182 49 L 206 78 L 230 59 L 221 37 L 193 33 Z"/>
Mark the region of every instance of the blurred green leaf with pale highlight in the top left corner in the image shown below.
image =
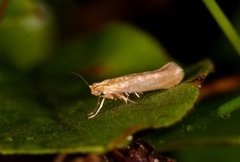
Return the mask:
<path id="1" fill-rule="evenodd" d="M 33 0 L 11 0 L 0 22 L 0 59 L 30 70 L 49 57 L 53 47 L 53 18 Z"/>

